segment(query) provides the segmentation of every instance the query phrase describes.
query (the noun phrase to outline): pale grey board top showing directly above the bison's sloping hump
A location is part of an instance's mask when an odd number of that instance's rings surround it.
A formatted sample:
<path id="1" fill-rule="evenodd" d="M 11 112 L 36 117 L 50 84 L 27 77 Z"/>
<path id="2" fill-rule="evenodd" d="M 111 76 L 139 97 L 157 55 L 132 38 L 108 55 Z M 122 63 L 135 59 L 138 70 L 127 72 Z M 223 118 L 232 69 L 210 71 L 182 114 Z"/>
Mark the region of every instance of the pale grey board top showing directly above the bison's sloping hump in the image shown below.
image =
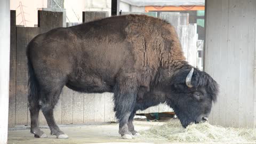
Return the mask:
<path id="1" fill-rule="evenodd" d="M 178 27 L 180 25 L 179 12 L 161 12 L 160 18 L 171 23 L 172 26 Z"/>

